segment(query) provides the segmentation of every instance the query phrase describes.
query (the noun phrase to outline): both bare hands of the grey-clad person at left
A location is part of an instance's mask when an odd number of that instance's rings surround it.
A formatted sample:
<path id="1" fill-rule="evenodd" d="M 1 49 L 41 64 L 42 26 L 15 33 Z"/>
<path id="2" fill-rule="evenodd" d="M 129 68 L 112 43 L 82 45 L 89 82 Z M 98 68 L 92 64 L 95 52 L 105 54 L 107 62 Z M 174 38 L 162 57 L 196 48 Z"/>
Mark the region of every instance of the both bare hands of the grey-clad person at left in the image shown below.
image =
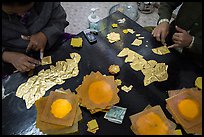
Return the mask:
<path id="1" fill-rule="evenodd" d="M 30 50 L 44 52 L 45 46 L 47 44 L 47 37 L 42 32 L 31 36 L 21 35 L 21 38 L 23 40 L 29 41 L 26 52 Z M 20 72 L 30 71 L 41 63 L 39 60 L 18 52 L 5 51 L 2 57 L 4 61 L 11 63 Z"/>

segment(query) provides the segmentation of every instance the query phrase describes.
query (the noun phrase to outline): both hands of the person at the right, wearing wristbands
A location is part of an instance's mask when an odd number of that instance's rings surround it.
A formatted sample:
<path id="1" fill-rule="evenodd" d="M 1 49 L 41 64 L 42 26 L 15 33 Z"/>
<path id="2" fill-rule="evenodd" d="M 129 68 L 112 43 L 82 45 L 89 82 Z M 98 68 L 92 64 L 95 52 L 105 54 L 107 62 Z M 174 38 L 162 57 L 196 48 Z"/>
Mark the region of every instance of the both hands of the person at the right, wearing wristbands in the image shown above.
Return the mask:
<path id="1" fill-rule="evenodd" d="M 176 33 L 174 33 L 172 40 L 173 45 L 168 48 L 184 48 L 188 47 L 192 41 L 192 36 L 184 29 L 176 26 Z M 153 31 L 152 35 L 156 38 L 157 41 L 165 43 L 166 36 L 169 33 L 169 23 L 162 22 L 160 23 Z"/>

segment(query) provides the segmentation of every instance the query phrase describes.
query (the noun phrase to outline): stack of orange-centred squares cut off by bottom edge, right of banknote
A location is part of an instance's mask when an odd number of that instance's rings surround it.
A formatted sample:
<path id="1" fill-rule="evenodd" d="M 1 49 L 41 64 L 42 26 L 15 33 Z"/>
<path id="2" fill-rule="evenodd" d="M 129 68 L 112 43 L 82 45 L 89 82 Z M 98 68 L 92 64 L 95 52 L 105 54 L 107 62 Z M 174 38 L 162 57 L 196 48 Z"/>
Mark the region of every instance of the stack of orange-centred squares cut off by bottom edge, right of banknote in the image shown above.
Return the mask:
<path id="1" fill-rule="evenodd" d="M 136 135 L 175 135 L 176 124 L 167 119 L 159 105 L 147 106 L 143 111 L 131 115 L 131 130 Z"/>

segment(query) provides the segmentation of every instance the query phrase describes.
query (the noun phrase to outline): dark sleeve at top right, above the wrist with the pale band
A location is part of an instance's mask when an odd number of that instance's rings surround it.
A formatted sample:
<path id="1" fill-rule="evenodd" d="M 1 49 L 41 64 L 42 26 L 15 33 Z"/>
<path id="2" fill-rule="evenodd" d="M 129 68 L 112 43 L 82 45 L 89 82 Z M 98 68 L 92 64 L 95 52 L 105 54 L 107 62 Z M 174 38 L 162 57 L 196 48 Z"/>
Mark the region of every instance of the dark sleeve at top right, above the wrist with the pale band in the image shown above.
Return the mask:
<path id="1" fill-rule="evenodd" d="M 161 2 L 158 10 L 159 20 L 161 19 L 171 19 L 173 11 L 181 5 L 182 2 Z M 157 23 L 158 23 L 157 22 Z"/>

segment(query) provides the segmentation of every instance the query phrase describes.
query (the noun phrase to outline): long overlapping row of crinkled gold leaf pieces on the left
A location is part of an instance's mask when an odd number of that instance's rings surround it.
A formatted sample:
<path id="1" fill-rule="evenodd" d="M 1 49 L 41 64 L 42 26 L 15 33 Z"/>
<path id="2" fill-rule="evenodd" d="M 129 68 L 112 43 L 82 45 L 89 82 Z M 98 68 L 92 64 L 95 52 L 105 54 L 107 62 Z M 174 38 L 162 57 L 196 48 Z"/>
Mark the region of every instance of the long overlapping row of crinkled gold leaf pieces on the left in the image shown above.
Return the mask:
<path id="1" fill-rule="evenodd" d="M 30 77 L 27 82 L 18 87 L 16 96 L 25 100 L 27 109 L 44 96 L 47 90 L 79 74 L 78 63 L 81 56 L 78 53 L 71 53 L 70 57 L 71 59 L 66 61 L 56 62 L 56 66 L 51 65 L 50 69 L 41 70 L 38 75 Z"/>

